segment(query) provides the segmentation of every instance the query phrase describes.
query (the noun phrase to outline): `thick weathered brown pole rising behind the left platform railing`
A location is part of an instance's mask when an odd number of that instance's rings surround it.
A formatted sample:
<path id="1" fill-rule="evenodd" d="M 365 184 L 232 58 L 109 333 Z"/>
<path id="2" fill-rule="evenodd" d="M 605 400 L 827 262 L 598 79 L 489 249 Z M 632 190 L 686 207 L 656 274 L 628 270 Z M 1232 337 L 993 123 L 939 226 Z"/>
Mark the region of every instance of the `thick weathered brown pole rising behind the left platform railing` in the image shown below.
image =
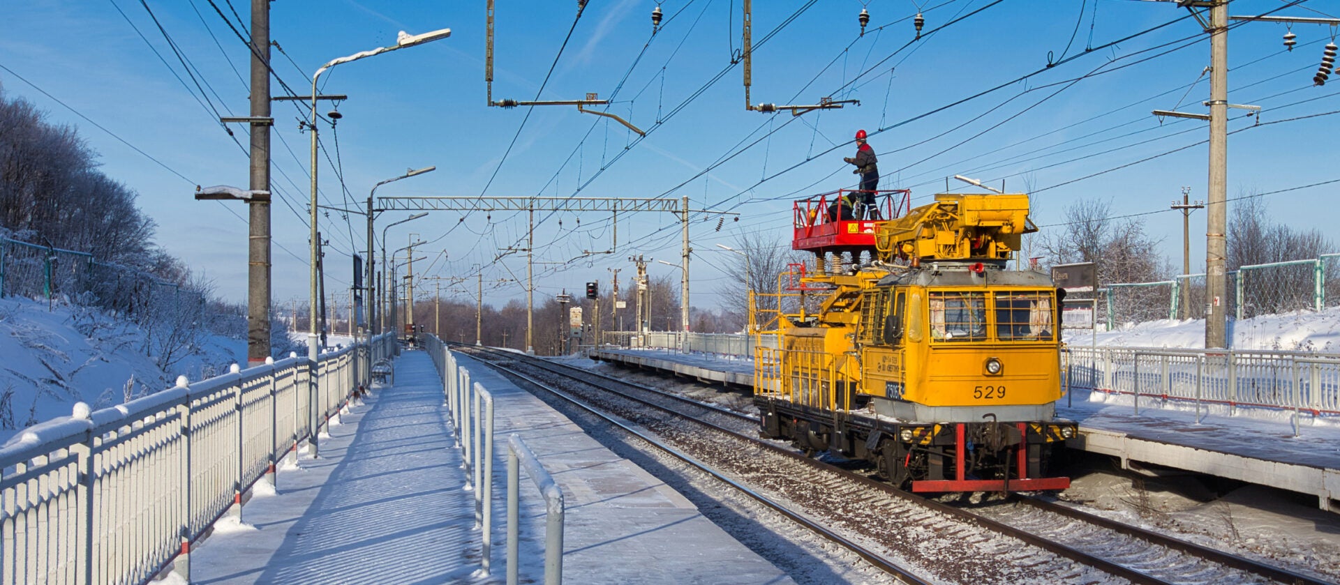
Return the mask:
<path id="1" fill-rule="evenodd" d="M 251 115 L 269 118 L 269 0 L 252 0 Z M 251 123 L 253 197 L 247 244 L 247 365 L 269 357 L 269 123 Z"/>

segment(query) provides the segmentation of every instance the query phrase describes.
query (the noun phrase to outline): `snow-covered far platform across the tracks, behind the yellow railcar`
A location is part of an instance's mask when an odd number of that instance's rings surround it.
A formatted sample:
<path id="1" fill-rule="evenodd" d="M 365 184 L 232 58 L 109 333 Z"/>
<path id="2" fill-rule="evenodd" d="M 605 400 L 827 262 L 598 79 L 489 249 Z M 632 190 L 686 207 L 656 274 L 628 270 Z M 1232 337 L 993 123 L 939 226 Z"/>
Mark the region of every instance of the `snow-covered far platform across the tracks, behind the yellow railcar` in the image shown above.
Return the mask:
<path id="1" fill-rule="evenodd" d="M 592 355 L 741 386 L 750 386 L 748 376 L 753 371 L 750 360 L 734 356 L 619 348 L 600 348 Z M 1061 399 L 1057 414 L 1080 424 L 1079 436 L 1067 444 L 1119 458 L 1123 467 L 1144 463 L 1316 495 L 1323 510 L 1340 511 L 1335 502 L 1340 499 L 1340 424 L 1304 423 L 1294 436 L 1285 414 L 1262 419 L 1202 410 L 1198 415 L 1150 396 L 1140 398 L 1135 414 L 1131 400 L 1083 390 Z"/>

